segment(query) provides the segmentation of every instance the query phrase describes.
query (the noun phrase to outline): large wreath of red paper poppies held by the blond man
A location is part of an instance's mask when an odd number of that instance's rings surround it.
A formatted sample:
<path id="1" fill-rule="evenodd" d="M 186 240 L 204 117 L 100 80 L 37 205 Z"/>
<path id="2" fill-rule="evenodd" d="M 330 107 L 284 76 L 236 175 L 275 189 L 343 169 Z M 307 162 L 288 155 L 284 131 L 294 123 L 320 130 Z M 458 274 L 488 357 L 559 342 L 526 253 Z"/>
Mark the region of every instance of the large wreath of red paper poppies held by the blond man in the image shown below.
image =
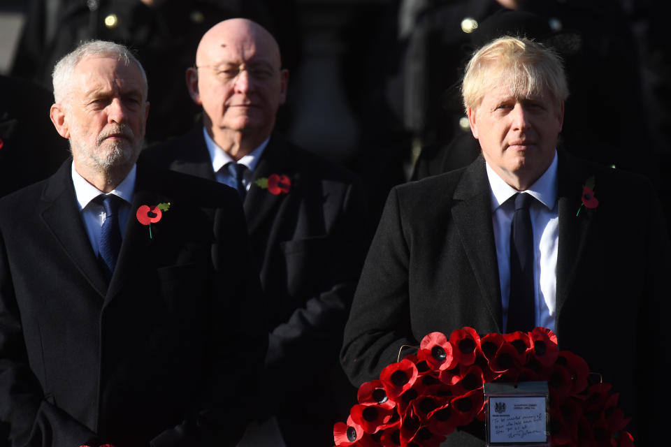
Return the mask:
<path id="1" fill-rule="evenodd" d="M 633 446 L 619 394 L 590 379 L 585 360 L 558 351 L 546 328 L 484 337 L 462 328 L 449 339 L 431 332 L 417 353 L 359 387 L 333 439 L 338 447 L 438 447 L 457 427 L 484 423 L 484 383 L 547 381 L 551 446 Z"/>

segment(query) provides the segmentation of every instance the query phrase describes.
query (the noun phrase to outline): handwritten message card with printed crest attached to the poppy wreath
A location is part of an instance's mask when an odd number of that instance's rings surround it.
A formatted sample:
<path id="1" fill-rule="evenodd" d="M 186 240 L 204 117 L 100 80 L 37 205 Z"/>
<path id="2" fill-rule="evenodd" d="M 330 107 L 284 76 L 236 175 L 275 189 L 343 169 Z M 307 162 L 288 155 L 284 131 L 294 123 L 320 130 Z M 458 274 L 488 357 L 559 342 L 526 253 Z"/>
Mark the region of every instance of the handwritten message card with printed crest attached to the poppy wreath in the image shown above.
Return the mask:
<path id="1" fill-rule="evenodd" d="M 490 397 L 489 443 L 547 441 L 544 397 Z"/>

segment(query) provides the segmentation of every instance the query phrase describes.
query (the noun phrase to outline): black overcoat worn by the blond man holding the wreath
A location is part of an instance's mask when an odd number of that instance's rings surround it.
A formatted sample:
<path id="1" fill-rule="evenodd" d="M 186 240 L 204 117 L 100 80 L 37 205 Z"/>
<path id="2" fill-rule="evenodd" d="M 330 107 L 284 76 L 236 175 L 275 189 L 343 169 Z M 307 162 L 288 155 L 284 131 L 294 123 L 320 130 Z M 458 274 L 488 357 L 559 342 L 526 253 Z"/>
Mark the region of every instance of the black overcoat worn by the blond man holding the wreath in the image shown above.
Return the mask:
<path id="1" fill-rule="evenodd" d="M 596 178 L 598 207 L 581 205 Z M 642 177 L 559 154 L 556 335 L 621 392 L 640 445 L 661 430 L 668 357 L 669 241 Z M 501 293 L 484 160 L 391 191 L 345 328 L 342 365 L 356 385 L 377 379 L 402 345 L 471 326 L 501 332 Z M 656 419 L 658 418 L 658 419 Z M 659 425 L 656 425 L 658 423 Z M 449 446 L 482 446 L 463 432 Z"/>

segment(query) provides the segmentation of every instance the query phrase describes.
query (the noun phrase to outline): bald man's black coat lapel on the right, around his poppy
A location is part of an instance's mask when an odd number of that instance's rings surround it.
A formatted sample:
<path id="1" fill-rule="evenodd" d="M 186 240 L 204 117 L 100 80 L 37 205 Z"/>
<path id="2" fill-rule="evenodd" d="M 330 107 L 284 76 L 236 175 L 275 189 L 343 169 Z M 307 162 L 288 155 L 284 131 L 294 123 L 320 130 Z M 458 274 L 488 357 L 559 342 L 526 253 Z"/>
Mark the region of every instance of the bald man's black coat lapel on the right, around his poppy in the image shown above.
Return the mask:
<path id="1" fill-rule="evenodd" d="M 291 189 L 300 187 L 301 179 L 296 174 L 291 161 L 287 159 L 287 156 L 283 156 L 283 153 L 281 143 L 275 137 L 271 138 L 261 155 L 257 168 L 254 169 L 252 185 L 247 191 L 244 203 L 250 235 L 254 234 L 265 221 L 272 219 L 280 203 L 291 195 L 291 191 L 277 195 L 270 193 L 268 189 L 256 184 L 258 179 L 268 178 L 272 174 L 287 175 L 291 179 Z"/>

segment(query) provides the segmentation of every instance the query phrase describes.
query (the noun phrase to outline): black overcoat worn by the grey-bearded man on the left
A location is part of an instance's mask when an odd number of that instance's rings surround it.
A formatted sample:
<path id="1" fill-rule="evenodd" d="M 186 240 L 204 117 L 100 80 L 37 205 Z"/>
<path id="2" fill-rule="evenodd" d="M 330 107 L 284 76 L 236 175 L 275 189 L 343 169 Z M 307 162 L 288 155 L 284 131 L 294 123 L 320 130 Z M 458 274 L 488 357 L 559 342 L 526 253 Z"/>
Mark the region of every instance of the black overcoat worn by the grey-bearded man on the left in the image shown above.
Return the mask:
<path id="1" fill-rule="evenodd" d="M 0 421 L 11 445 L 234 445 L 267 343 L 236 192 L 138 165 L 108 286 L 70 166 L 0 200 Z M 150 238 L 136 210 L 166 202 Z"/>

